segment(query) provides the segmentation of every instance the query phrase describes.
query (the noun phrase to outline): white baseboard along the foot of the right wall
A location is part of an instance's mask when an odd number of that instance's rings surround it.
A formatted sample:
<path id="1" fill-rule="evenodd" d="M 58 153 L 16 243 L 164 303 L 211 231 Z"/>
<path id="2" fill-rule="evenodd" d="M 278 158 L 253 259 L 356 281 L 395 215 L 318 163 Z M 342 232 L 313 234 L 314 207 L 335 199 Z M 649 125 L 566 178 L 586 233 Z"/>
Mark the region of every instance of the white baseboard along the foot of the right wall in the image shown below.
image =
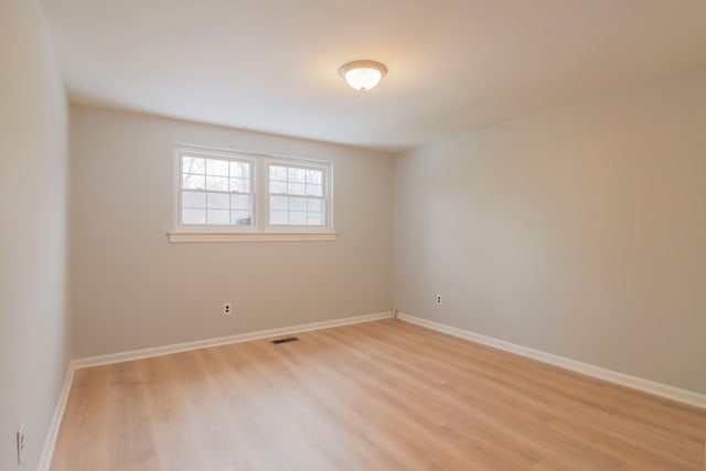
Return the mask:
<path id="1" fill-rule="evenodd" d="M 600 366 L 590 365 L 588 363 L 582 363 L 576 360 L 565 358 L 563 356 L 546 353 L 541 350 L 530 349 L 527 346 L 517 345 L 514 343 L 505 342 L 503 340 L 494 339 L 492 336 L 482 335 L 475 332 L 453 328 L 440 322 L 429 321 L 402 312 L 399 312 L 397 317 L 403 321 L 443 332 L 449 335 L 470 340 L 483 345 L 493 346 L 495 349 L 504 350 L 506 352 L 515 353 L 522 356 L 527 356 L 530 358 L 538 360 L 541 362 L 570 370 L 573 372 L 581 373 L 587 376 L 605 379 L 622 386 L 631 387 L 633 389 L 654 394 L 655 396 L 666 397 L 667 399 L 706 409 L 706 395 L 704 394 L 682 389 L 662 383 L 656 383 L 638 376 L 627 375 L 624 373 L 618 373 L 611 370 L 602 368 Z"/>

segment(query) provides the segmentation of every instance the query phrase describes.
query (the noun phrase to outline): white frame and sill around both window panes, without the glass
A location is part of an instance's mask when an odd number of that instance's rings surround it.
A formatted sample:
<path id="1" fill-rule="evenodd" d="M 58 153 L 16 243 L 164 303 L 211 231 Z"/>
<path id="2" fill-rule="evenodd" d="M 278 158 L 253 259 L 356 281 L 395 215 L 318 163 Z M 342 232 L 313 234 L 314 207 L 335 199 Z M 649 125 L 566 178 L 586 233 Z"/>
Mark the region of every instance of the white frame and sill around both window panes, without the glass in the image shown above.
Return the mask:
<path id="1" fill-rule="evenodd" d="M 253 224 L 194 225 L 182 224 L 182 157 L 215 158 L 250 163 L 253 194 Z M 335 240 L 333 228 L 333 162 L 313 159 L 270 156 L 258 152 L 214 149 L 193 144 L 174 146 L 174 205 L 172 231 L 168 232 L 172 243 L 188 242 L 314 242 Z M 288 165 L 323 170 L 323 195 L 325 224 L 323 226 L 290 226 L 269 224 L 269 165 Z"/>

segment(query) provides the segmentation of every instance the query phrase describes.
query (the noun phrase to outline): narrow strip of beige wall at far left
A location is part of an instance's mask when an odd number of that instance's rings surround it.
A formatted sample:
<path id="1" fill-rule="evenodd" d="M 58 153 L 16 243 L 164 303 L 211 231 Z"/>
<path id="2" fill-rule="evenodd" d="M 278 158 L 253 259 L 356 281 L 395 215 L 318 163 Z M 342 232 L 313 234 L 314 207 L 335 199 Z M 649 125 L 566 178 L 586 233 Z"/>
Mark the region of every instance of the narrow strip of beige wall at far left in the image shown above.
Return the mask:
<path id="1" fill-rule="evenodd" d="M 34 1 L 0 2 L 0 469 L 34 470 L 71 355 L 66 104 Z"/>

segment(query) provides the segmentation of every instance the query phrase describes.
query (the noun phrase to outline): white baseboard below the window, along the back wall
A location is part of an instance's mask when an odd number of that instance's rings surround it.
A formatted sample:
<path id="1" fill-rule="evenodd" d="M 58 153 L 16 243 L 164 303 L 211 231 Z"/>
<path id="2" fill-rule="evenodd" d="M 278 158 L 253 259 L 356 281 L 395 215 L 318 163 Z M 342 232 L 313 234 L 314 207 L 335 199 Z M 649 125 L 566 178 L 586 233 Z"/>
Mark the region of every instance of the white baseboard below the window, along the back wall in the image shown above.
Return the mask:
<path id="1" fill-rule="evenodd" d="M 352 318 L 333 319 L 330 321 L 311 322 L 308 324 L 290 325 L 286 328 L 261 330 L 240 333 L 236 335 L 220 336 L 215 339 L 196 340 L 194 342 L 174 343 L 171 345 L 153 346 L 149 349 L 131 350 L 128 352 L 110 353 L 108 355 L 87 356 L 74 360 L 76 368 L 88 366 L 109 365 L 111 363 L 129 362 L 132 360 L 150 358 L 152 356 L 170 355 L 172 353 L 189 352 L 191 350 L 207 349 L 210 346 L 228 345 L 231 343 L 248 342 L 250 340 L 268 339 L 271 336 L 290 335 L 299 332 L 308 332 L 320 329 L 335 328 L 340 325 L 357 324 L 361 322 L 376 321 L 392 317 L 392 312 L 378 312 L 375 314 L 355 315 Z"/>

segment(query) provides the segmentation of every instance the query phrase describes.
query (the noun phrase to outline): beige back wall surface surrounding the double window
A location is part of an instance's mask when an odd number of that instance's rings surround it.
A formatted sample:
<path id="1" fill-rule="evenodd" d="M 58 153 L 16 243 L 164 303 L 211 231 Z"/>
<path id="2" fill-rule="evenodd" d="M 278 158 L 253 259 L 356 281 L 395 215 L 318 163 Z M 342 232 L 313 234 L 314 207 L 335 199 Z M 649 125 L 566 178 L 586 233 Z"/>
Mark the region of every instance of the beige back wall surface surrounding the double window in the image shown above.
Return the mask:
<path id="1" fill-rule="evenodd" d="M 339 239 L 170 244 L 175 143 L 333 161 Z M 78 356 L 391 309 L 388 154 L 77 105 L 71 154 Z"/>

